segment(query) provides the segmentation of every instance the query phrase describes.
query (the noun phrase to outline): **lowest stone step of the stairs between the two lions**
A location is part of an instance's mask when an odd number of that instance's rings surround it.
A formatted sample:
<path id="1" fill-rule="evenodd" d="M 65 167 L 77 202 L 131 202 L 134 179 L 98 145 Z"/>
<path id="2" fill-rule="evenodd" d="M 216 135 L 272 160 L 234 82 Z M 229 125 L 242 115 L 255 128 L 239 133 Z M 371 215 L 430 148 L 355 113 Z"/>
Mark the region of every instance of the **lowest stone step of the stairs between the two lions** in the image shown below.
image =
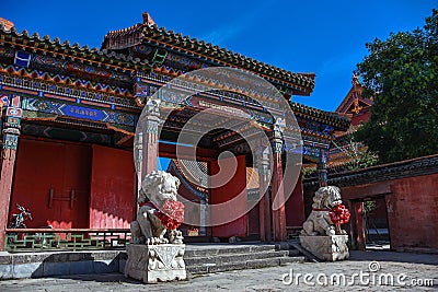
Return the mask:
<path id="1" fill-rule="evenodd" d="M 201 275 L 219 271 L 242 270 L 266 268 L 285 265 L 288 262 L 304 262 L 306 258 L 300 256 L 295 257 L 272 257 L 261 259 L 249 259 L 242 261 L 224 262 L 224 264 L 205 264 L 205 265 L 187 265 L 186 269 L 192 275 Z"/>

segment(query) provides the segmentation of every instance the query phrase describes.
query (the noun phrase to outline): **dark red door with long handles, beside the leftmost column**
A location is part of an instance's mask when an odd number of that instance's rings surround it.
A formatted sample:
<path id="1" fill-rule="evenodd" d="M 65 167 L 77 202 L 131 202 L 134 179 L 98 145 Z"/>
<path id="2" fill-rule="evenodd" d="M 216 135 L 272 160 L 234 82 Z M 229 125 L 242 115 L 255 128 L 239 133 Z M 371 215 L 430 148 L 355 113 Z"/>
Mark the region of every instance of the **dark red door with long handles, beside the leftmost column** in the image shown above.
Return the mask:
<path id="1" fill-rule="evenodd" d="M 20 138 L 10 214 L 15 203 L 32 212 L 27 227 L 87 227 L 91 149 L 87 144 Z M 49 189 L 54 200 L 49 208 Z M 76 192 L 70 209 L 70 191 Z M 58 200 L 64 198 L 67 200 Z"/>

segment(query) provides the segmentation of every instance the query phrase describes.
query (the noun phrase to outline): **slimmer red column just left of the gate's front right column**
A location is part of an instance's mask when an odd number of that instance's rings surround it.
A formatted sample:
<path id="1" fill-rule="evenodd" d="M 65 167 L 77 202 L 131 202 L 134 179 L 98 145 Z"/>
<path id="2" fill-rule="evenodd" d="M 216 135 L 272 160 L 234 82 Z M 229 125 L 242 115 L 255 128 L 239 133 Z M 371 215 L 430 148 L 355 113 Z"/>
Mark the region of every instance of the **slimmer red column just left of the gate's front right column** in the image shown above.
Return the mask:
<path id="1" fill-rule="evenodd" d="M 270 225 L 270 198 L 269 198 L 269 149 L 267 147 L 260 147 L 260 152 L 256 153 L 255 167 L 258 172 L 258 220 L 260 233 L 262 242 L 272 241 L 272 225 Z"/>

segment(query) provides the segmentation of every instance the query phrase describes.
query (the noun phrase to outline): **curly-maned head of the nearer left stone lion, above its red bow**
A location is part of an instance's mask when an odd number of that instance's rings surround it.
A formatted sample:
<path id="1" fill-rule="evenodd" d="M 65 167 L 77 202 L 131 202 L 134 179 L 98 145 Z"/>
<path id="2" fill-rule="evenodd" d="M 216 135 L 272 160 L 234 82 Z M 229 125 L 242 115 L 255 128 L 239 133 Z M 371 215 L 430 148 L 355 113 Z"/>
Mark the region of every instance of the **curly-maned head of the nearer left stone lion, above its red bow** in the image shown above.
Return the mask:
<path id="1" fill-rule="evenodd" d="M 141 182 L 138 202 L 152 201 L 161 205 L 165 200 L 176 201 L 180 179 L 170 173 L 157 171 L 148 174 Z"/>

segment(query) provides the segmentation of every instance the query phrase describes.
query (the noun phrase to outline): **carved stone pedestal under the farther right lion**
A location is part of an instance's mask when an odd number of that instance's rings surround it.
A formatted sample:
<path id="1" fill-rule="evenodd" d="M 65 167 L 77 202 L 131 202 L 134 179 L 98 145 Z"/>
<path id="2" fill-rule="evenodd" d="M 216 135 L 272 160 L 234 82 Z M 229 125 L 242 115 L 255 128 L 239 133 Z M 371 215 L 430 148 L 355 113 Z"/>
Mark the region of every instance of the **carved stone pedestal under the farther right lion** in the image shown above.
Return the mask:
<path id="1" fill-rule="evenodd" d="M 301 246 L 322 260 L 335 261 L 349 257 L 348 235 L 307 236 L 300 235 Z"/>

